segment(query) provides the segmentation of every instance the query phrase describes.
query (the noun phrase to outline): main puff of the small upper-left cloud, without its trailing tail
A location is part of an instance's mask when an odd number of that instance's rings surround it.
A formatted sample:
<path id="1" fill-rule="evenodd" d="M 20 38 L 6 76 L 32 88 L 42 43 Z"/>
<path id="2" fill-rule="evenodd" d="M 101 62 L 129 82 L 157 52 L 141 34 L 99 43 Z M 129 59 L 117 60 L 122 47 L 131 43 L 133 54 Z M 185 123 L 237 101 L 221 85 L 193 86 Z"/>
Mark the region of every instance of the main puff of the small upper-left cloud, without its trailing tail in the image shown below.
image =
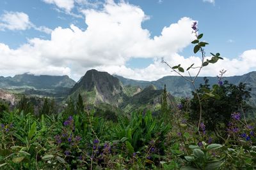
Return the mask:
<path id="1" fill-rule="evenodd" d="M 0 17 L 0 30 L 26 30 L 31 27 L 31 22 L 26 13 L 5 11 Z"/>

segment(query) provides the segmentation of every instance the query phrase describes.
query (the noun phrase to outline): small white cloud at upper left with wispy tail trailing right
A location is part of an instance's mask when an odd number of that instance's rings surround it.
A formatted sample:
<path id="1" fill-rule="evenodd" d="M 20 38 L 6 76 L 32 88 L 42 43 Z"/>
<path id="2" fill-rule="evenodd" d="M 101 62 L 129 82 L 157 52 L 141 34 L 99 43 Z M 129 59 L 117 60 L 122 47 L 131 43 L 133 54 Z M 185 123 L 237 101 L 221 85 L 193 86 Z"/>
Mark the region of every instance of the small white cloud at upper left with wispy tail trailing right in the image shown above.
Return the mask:
<path id="1" fill-rule="evenodd" d="M 29 20 L 29 16 L 23 12 L 4 11 L 4 14 L 0 17 L 0 31 L 6 29 L 12 31 L 24 31 L 31 28 L 45 32 L 46 34 L 51 34 L 52 32 L 51 29 L 45 26 L 36 27 L 36 25 Z"/>

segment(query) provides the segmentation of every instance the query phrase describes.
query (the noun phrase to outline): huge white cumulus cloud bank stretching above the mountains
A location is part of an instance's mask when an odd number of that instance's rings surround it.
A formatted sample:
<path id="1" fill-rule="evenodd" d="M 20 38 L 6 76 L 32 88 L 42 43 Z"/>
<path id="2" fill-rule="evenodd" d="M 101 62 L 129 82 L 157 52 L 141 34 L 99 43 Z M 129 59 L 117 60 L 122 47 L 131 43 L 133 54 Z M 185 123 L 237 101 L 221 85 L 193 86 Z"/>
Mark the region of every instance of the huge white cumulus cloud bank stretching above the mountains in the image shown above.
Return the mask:
<path id="1" fill-rule="evenodd" d="M 161 63 L 161 57 L 171 66 L 182 64 L 185 69 L 200 63 L 198 56 L 179 55 L 194 39 L 191 18 L 180 18 L 151 38 L 150 31 L 141 27 L 148 17 L 138 6 L 108 1 L 102 10 L 82 12 L 88 25 L 84 31 L 76 25 L 57 27 L 49 40 L 29 39 L 17 49 L 1 44 L 0 73 L 68 74 L 79 80 L 88 69 L 95 68 L 137 80 L 156 80 L 175 74 Z M 144 69 L 125 66 L 136 57 L 153 58 L 154 63 Z M 256 50 L 248 50 L 238 59 L 225 59 L 205 67 L 200 75 L 214 76 L 220 69 L 227 69 L 229 75 L 243 74 L 255 69 L 255 62 Z M 247 67 L 240 67 L 241 64 Z"/>

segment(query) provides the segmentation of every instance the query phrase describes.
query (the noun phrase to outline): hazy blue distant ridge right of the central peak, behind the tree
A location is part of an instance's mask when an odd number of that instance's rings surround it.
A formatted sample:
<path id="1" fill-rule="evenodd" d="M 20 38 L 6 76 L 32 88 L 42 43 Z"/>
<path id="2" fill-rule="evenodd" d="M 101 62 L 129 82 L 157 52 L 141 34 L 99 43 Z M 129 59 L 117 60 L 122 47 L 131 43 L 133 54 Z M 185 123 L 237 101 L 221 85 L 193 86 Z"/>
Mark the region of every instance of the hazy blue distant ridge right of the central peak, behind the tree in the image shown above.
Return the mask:
<path id="1" fill-rule="evenodd" d="M 164 84 L 166 84 L 166 89 L 168 92 L 177 97 L 191 97 L 191 91 L 194 90 L 191 83 L 184 80 L 184 78 L 180 76 L 164 76 L 156 81 L 140 81 L 124 78 L 122 76 L 114 76 L 122 81 L 124 85 L 134 85 L 136 87 L 141 87 L 142 89 L 148 85 L 154 85 L 156 89 L 163 89 Z M 218 78 L 216 77 L 209 76 L 207 78 L 209 79 L 210 85 L 218 83 Z M 227 80 L 229 83 L 233 83 L 235 85 L 238 85 L 240 82 L 246 83 L 247 87 L 252 89 L 251 103 L 256 106 L 256 71 L 244 74 L 242 76 L 225 76 L 222 80 Z M 198 77 L 195 81 L 195 86 L 199 87 L 200 83 L 204 84 L 204 77 Z"/>

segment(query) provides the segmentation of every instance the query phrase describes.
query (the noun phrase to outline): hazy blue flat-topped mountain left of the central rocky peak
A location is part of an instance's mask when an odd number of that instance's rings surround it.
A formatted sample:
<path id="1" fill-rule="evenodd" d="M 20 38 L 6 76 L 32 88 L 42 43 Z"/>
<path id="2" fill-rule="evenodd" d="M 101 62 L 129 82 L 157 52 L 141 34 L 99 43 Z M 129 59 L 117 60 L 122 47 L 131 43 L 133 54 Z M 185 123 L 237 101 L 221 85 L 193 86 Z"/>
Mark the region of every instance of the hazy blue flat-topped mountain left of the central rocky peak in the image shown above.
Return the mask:
<path id="1" fill-rule="evenodd" d="M 68 76 L 36 76 L 28 73 L 13 77 L 0 76 L 0 89 L 13 94 L 55 97 L 57 101 L 63 100 L 75 83 L 76 81 Z"/>

